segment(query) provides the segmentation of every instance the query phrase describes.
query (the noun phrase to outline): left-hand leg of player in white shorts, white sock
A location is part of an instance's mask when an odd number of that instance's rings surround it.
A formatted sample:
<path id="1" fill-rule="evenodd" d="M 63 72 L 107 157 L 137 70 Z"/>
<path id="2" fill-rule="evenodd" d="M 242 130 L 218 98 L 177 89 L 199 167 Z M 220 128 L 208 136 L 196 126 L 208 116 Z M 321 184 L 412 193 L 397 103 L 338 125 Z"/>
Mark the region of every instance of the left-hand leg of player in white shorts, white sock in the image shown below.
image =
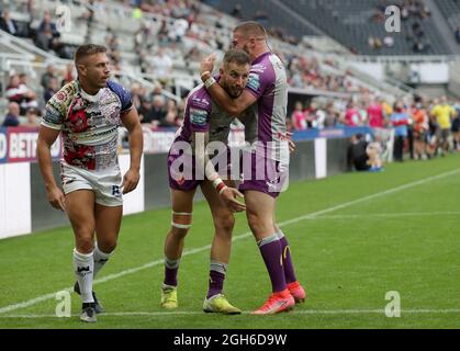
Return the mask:
<path id="1" fill-rule="evenodd" d="M 66 195 L 66 212 L 75 234 L 74 269 L 82 302 L 80 319 L 94 322 L 97 321 L 92 295 L 94 193 L 90 190 L 77 190 L 68 193 Z"/>

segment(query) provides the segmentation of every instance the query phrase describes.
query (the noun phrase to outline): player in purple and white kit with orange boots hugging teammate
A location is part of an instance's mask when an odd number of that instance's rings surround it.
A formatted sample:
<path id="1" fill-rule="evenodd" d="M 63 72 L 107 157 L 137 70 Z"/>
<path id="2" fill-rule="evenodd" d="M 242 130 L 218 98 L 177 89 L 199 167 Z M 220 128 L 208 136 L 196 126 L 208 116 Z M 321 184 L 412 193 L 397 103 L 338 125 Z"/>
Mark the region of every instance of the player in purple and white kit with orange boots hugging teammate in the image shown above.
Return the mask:
<path id="1" fill-rule="evenodd" d="M 305 299 L 305 291 L 298 282 L 284 234 L 276 224 L 276 201 L 288 181 L 289 134 L 285 115 L 288 82 L 281 60 L 270 52 L 267 32 L 257 22 L 244 22 L 233 33 L 234 47 L 247 52 L 251 70 L 247 87 L 237 99 L 231 99 L 211 72 L 215 55 L 201 63 L 201 79 L 212 99 L 227 113 L 240 115 L 251 106 L 251 117 L 244 118 L 245 137 L 251 145 L 243 157 L 243 182 L 246 215 L 267 267 L 272 294 L 256 315 L 277 314 L 291 309 Z M 245 167 L 250 159 L 250 168 Z M 260 165 L 263 179 L 258 179 Z M 282 262 L 280 264 L 280 262 Z"/>

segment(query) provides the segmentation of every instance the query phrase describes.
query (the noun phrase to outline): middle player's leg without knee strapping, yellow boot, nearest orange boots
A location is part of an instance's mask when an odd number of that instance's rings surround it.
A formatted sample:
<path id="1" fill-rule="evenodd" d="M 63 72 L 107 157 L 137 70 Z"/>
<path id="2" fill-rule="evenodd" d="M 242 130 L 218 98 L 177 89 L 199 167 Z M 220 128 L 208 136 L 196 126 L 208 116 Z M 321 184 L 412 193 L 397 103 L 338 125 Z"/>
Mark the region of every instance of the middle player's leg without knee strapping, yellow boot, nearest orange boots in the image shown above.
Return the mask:
<path id="1" fill-rule="evenodd" d="M 226 185 L 234 186 L 232 181 Z M 226 315 L 240 314 L 232 306 L 222 291 L 232 250 L 232 234 L 235 226 L 233 212 L 223 203 L 211 182 L 204 181 L 201 190 L 210 205 L 214 222 L 214 238 L 211 246 L 210 283 L 207 296 L 203 303 L 204 312 L 222 313 Z"/>

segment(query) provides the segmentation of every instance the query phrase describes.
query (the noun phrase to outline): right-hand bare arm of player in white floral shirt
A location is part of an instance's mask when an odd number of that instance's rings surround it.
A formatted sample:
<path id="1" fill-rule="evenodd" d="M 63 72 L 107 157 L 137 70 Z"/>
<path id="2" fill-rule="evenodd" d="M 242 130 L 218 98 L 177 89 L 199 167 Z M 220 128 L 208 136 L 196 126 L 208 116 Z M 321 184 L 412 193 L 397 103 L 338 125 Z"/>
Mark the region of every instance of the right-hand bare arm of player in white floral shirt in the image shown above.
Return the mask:
<path id="1" fill-rule="evenodd" d="M 130 139 L 130 169 L 123 176 L 123 194 L 136 189 L 141 179 L 141 158 L 144 148 L 144 135 L 137 110 L 133 106 L 122 117 Z"/>

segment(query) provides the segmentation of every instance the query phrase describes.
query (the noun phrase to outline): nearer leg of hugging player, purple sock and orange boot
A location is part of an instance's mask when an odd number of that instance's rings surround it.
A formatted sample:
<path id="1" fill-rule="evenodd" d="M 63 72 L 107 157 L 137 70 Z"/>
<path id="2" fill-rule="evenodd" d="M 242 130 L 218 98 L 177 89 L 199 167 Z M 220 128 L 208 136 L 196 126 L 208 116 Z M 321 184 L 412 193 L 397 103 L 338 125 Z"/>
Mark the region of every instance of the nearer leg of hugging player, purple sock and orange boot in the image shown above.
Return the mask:
<path id="1" fill-rule="evenodd" d="M 245 191 L 246 215 L 270 276 L 272 294 L 253 314 L 267 315 L 289 310 L 295 305 L 284 278 L 282 249 L 274 228 L 276 200 L 262 192 Z"/>

